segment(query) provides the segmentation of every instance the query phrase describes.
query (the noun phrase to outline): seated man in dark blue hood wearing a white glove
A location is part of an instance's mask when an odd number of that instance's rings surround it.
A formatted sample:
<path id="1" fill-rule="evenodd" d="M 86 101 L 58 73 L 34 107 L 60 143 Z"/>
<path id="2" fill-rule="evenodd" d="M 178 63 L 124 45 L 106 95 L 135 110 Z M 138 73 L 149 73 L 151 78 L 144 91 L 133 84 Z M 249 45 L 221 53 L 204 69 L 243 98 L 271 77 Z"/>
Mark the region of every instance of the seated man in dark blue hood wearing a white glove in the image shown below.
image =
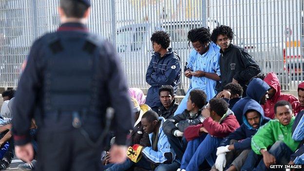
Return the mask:
<path id="1" fill-rule="evenodd" d="M 235 132 L 230 133 L 217 148 L 215 165 L 212 171 L 240 171 L 247 154 L 251 150 L 251 137 L 270 119 L 264 116 L 261 105 L 251 99 L 244 108 L 243 124 Z M 227 167 L 225 168 L 224 163 Z M 217 170 L 216 170 L 216 169 Z"/>

